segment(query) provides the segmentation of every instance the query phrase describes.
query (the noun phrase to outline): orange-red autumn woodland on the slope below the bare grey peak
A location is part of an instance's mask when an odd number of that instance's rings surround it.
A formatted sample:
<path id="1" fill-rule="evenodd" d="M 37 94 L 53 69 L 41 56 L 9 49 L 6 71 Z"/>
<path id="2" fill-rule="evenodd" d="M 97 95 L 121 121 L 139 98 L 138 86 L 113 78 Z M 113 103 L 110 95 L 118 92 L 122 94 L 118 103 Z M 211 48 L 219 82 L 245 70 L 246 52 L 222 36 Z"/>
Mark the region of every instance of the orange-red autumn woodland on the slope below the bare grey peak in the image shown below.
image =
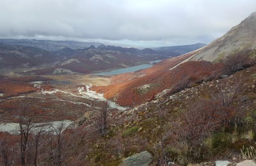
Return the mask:
<path id="1" fill-rule="evenodd" d="M 134 106 L 152 100 L 164 89 L 173 87 L 172 93 L 174 93 L 189 84 L 220 75 L 221 64 L 206 61 L 189 61 L 170 70 L 190 56 L 193 54 L 168 59 L 139 72 L 113 76 L 113 84 L 107 87 L 95 87 L 95 89 L 104 93 L 106 98 L 116 98 L 120 105 Z M 122 82 L 117 80 L 122 80 Z M 147 84 L 148 87 L 141 87 Z"/>

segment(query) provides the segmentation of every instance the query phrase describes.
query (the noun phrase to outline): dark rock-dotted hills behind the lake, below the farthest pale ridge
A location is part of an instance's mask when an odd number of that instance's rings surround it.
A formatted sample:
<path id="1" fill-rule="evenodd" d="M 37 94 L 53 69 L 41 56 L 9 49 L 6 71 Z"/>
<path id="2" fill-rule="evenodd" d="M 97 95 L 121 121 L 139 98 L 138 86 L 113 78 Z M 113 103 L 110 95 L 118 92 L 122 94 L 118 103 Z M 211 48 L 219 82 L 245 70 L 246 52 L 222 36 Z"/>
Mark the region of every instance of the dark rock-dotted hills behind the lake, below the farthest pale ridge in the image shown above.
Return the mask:
<path id="1" fill-rule="evenodd" d="M 8 75 L 95 73 L 179 56 L 177 53 L 108 46 L 50 51 L 0 43 L 0 72 Z"/>

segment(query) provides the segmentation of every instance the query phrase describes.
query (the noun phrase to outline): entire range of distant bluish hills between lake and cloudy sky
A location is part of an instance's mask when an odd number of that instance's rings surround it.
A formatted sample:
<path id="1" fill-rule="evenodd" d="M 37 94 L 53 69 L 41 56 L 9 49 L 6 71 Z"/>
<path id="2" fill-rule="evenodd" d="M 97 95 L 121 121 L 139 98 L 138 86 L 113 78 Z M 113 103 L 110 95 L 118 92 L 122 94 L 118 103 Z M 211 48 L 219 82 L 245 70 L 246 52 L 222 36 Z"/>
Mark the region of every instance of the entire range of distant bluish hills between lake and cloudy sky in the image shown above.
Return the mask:
<path id="1" fill-rule="evenodd" d="M 95 73 L 179 56 L 202 44 L 135 49 L 79 41 L 0 39 L 0 71 L 5 75 Z"/>

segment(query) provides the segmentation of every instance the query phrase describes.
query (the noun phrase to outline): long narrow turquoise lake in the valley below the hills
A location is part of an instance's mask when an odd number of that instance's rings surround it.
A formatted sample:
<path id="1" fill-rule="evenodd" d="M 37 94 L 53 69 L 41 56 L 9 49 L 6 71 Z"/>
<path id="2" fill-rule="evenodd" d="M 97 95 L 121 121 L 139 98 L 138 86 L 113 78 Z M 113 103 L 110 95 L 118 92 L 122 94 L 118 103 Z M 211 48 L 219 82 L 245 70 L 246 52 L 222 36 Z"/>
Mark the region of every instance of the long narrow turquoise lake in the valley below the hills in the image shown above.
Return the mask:
<path id="1" fill-rule="evenodd" d="M 150 68 L 151 66 L 154 65 L 154 63 L 159 63 L 160 61 L 162 61 L 162 60 L 151 61 L 150 64 L 140 64 L 138 66 L 132 66 L 129 68 L 120 68 L 120 69 L 112 70 L 111 72 L 96 73 L 96 75 L 108 76 L 108 75 L 117 75 L 117 74 L 122 74 L 122 73 L 136 72 L 138 70 Z"/>

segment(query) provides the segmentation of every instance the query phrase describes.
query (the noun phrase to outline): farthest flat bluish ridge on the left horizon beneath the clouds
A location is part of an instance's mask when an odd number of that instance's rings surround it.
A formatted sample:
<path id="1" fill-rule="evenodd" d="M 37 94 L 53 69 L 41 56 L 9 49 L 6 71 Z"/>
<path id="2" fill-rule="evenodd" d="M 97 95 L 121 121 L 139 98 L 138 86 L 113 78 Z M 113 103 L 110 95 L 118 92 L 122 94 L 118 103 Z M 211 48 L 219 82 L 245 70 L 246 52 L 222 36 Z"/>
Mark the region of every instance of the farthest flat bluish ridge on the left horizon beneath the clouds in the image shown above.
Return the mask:
<path id="1" fill-rule="evenodd" d="M 60 50 L 65 47 L 70 49 L 84 49 L 90 47 L 91 45 L 101 45 L 98 42 L 81 42 L 81 41 L 54 41 L 54 40 L 29 40 L 29 39 L 0 39 L 0 43 L 5 43 L 8 45 L 15 46 L 26 46 L 35 47 L 44 50 Z"/>

